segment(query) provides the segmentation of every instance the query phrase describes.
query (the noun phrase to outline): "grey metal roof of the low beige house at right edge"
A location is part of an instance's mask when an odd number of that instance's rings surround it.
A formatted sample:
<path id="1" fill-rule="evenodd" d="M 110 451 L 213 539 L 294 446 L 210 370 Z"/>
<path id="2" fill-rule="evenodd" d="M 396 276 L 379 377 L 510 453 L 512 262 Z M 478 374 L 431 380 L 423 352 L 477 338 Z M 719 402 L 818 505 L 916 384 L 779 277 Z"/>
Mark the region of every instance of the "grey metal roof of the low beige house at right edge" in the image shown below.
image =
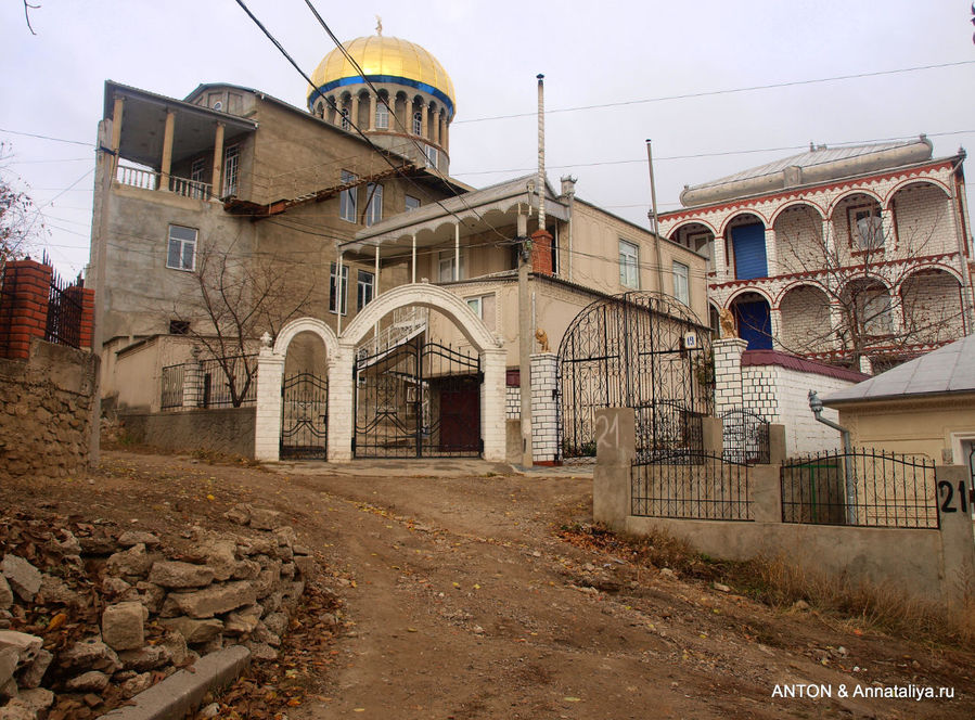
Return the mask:
<path id="1" fill-rule="evenodd" d="M 911 395 L 975 393 L 975 335 L 823 398 L 825 404 Z"/>

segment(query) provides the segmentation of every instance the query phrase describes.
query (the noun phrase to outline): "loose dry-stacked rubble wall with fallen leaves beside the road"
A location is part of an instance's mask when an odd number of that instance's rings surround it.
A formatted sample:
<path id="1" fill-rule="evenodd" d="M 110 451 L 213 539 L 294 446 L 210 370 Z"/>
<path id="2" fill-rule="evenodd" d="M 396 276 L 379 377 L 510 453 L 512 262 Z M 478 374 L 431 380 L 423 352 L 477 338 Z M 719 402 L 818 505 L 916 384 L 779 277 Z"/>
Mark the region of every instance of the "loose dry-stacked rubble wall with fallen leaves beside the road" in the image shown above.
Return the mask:
<path id="1" fill-rule="evenodd" d="M 277 659 L 316 574 L 311 551 L 275 511 L 242 504 L 226 517 L 240 533 L 168 540 L 0 517 L 0 717 L 43 717 L 55 699 L 94 717 L 228 645 Z"/>

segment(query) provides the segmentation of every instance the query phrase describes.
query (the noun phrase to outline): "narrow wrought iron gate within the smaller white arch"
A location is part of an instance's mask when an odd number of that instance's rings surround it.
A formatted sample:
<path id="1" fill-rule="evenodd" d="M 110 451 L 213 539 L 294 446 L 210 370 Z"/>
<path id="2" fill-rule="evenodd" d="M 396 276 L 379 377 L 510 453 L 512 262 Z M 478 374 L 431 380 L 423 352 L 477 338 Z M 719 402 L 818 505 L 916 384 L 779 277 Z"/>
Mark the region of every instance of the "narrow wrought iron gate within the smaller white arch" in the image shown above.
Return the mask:
<path id="1" fill-rule="evenodd" d="M 281 385 L 281 458 L 325 460 L 329 439 L 329 382 L 311 373 Z"/>

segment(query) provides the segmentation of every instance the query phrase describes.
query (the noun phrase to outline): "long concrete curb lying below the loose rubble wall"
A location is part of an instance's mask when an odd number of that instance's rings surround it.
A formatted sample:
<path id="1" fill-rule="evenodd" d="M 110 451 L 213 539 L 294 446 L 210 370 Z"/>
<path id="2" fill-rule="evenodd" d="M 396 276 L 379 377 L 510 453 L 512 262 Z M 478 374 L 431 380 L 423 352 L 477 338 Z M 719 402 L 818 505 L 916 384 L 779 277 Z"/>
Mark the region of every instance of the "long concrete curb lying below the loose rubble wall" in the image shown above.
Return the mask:
<path id="1" fill-rule="evenodd" d="M 180 670 L 102 718 L 110 720 L 182 720 L 207 692 L 233 681 L 251 664 L 251 651 L 234 645 L 200 658 L 193 671 Z"/>

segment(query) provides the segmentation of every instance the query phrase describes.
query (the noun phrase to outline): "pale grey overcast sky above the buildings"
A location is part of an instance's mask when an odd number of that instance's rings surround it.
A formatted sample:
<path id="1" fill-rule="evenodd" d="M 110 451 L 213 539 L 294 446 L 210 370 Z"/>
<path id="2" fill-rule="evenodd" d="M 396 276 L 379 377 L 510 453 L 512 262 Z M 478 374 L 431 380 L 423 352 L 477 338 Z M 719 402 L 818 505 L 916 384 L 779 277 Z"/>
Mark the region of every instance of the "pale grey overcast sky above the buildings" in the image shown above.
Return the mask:
<path id="1" fill-rule="evenodd" d="M 30 11 L 36 35 L 21 0 L 0 3 L 0 141 L 14 154 L 5 172 L 42 208 L 44 244 L 65 274 L 88 260 L 106 79 L 180 99 L 200 82 L 232 82 L 304 107 L 305 81 L 234 0 L 31 2 L 41 5 Z M 307 74 L 334 48 L 304 0 L 247 4 Z M 451 175 L 475 187 L 534 168 L 535 76 L 544 73 L 550 181 L 557 188 L 572 172 L 580 197 L 642 226 L 646 138 L 662 211 L 679 206 L 684 184 L 810 141 L 924 132 L 936 157 L 975 147 L 968 0 L 315 4 L 339 38 L 373 34 L 379 14 L 384 35 L 440 61 L 457 92 Z M 804 82 L 945 64 L 954 65 Z M 714 94 L 779 83 L 793 85 Z M 517 114 L 528 116 L 486 119 Z"/>

